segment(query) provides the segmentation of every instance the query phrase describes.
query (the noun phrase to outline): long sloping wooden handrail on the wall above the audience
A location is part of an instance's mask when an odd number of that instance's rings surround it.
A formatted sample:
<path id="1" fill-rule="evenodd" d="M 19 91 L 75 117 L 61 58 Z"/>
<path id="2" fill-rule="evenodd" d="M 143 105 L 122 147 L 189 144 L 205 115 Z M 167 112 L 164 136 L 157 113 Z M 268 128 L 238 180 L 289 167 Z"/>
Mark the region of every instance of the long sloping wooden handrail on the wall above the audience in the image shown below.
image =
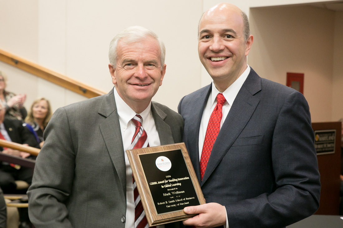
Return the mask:
<path id="1" fill-rule="evenodd" d="M 50 81 L 51 83 L 54 83 L 56 85 L 69 89 L 75 93 L 79 93 L 87 98 L 97 97 L 97 96 L 105 94 L 104 91 L 87 86 L 79 81 L 76 81 L 67 76 L 51 71 L 38 64 L 29 62 L 25 59 L 22 59 L 18 56 L 15 56 L 1 49 L 0 49 L 0 61 L 7 63 L 11 66 L 17 67 L 19 69 L 22 69 L 23 71 L 36 75 L 47 81 Z"/>

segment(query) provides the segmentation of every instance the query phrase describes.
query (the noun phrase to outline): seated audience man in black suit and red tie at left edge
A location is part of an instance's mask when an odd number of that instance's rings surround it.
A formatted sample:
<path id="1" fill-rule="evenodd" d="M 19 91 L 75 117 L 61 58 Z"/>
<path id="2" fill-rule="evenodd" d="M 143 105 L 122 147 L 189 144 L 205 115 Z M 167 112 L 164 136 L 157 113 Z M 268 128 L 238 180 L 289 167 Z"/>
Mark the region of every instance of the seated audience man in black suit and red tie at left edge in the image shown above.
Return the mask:
<path id="1" fill-rule="evenodd" d="M 39 148 L 39 144 L 31 132 L 23 126 L 22 122 L 17 119 L 4 119 L 5 108 L 0 104 L 0 138 L 29 145 L 30 147 Z M 17 157 L 34 157 L 29 153 L 25 153 L 10 148 L 1 148 L 2 153 L 10 154 Z M 6 162 L 0 163 L 0 187 L 4 193 L 14 193 L 16 190 L 15 180 L 23 180 L 28 184 L 32 182 L 33 170 L 27 167 L 9 164 Z"/>

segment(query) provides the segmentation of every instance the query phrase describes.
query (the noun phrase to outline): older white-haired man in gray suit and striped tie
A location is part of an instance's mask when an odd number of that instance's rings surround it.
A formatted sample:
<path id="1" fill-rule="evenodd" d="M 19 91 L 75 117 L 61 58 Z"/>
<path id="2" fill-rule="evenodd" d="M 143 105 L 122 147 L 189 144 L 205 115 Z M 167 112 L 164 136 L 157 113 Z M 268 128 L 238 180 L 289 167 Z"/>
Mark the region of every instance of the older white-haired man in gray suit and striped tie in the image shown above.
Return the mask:
<path id="1" fill-rule="evenodd" d="M 27 192 L 36 228 L 147 227 L 125 151 L 181 142 L 182 117 L 151 101 L 164 59 L 156 34 L 126 28 L 110 43 L 114 89 L 55 112 Z"/>

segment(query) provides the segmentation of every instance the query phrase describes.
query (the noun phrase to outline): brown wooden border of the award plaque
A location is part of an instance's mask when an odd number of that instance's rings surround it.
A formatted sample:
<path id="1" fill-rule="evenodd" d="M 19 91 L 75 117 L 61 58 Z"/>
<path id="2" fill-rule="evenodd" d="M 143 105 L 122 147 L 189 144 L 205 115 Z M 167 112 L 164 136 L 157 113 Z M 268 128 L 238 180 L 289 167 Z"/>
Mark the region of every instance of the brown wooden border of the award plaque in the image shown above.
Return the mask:
<path id="1" fill-rule="evenodd" d="M 175 221 L 186 220 L 187 218 L 194 216 L 194 215 L 186 214 L 182 210 L 158 215 L 155 210 L 154 202 L 150 193 L 149 185 L 145 178 L 144 170 L 141 165 L 139 155 L 146 154 L 146 153 L 159 153 L 159 152 L 170 151 L 170 150 L 181 150 L 187 169 L 188 169 L 189 176 L 192 180 L 194 189 L 196 191 L 198 200 L 200 204 L 205 203 L 205 199 L 201 192 L 201 188 L 199 186 L 197 176 L 194 172 L 191 160 L 189 158 L 185 143 L 182 142 L 182 143 L 161 145 L 157 147 L 147 147 L 147 148 L 140 148 L 140 149 L 134 149 L 134 150 L 127 150 L 126 153 L 128 155 L 128 159 L 130 162 L 132 174 L 136 181 L 138 192 L 141 196 L 141 201 L 143 204 L 143 208 L 144 208 L 149 226 L 157 226 L 157 225 L 162 225 L 162 224 L 171 223 Z"/>

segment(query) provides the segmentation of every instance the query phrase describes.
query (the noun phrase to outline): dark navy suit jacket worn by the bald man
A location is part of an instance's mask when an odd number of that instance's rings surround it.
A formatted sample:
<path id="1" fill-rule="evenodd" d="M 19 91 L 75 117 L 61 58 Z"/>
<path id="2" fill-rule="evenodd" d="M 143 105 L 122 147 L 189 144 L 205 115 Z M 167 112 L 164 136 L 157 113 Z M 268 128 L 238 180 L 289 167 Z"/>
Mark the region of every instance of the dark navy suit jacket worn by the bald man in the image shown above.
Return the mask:
<path id="1" fill-rule="evenodd" d="M 226 207 L 235 227 L 284 227 L 313 214 L 320 182 L 304 96 L 253 69 L 237 94 L 200 180 L 199 128 L 211 85 L 182 98 L 183 141 L 206 203 Z M 200 151 L 201 153 L 201 151 Z"/>

